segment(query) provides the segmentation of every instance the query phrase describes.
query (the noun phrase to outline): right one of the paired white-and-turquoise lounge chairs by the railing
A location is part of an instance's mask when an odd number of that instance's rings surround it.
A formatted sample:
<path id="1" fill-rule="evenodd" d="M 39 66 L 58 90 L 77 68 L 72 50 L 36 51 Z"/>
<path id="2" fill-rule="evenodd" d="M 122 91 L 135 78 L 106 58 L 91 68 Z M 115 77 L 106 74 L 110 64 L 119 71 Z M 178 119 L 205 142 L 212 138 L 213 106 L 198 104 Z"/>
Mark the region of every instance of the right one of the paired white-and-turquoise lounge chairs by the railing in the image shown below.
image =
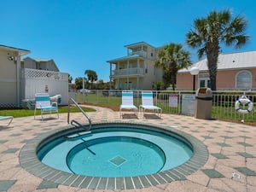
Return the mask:
<path id="1" fill-rule="evenodd" d="M 142 103 L 143 104 L 139 106 L 139 109 L 143 113 L 143 116 L 146 110 L 154 111 L 154 113 L 156 113 L 159 117 L 161 116 L 162 109 L 154 106 L 152 91 L 142 93 Z"/>

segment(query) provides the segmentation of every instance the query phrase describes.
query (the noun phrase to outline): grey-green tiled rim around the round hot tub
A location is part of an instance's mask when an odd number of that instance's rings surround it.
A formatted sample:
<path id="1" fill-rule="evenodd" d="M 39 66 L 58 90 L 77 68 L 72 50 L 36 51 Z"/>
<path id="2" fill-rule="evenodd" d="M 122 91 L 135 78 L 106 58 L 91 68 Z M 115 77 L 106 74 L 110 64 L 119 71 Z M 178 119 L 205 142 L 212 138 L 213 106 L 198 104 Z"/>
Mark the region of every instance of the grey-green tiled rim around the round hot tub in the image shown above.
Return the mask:
<path id="1" fill-rule="evenodd" d="M 125 124 L 125 125 L 147 125 L 138 123 L 124 123 L 124 122 L 108 122 L 97 123 L 95 125 L 111 125 L 111 124 Z M 77 188 L 85 189 L 142 189 L 155 186 L 163 183 L 171 183 L 172 181 L 185 180 L 186 176 L 196 172 L 201 166 L 205 165 L 208 158 L 207 147 L 201 143 L 195 137 L 190 136 L 183 131 L 177 131 L 165 126 L 152 126 L 150 127 L 161 128 L 165 131 L 171 131 L 173 134 L 183 137 L 189 141 L 194 149 L 194 155 L 181 166 L 172 168 L 164 172 L 158 172 L 151 175 L 139 176 L 139 177 L 86 177 L 80 175 L 74 175 L 67 172 L 61 172 L 55 170 L 49 166 L 44 165 L 38 160 L 36 151 L 38 144 L 44 140 L 44 138 L 51 136 L 54 133 L 70 130 L 72 127 L 64 127 L 55 131 L 49 131 L 38 137 L 35 137 L 20 150 L 20 165 L 26 169 L 27 172 L 40 177 L 46 181 L 52 183 L 63 184 L 67 186 L 73 186 Z"/>

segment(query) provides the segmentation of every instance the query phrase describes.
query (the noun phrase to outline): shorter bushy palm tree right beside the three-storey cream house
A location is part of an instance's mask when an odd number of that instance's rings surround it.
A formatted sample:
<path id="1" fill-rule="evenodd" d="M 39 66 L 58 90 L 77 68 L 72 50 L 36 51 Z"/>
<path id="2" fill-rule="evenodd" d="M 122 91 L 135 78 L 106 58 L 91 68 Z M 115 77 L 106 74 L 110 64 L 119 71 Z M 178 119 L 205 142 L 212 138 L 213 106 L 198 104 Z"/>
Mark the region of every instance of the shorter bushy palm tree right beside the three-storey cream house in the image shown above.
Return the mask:
<path id="1" fill-rule="evenodd" d="M 156 67 L 162 67 L 164 70 L 163 79 L 165 84 L 172 84 L 172 90 L 175 90 L 177 71 L 190 64 L 190 54 L 183 49 L 182 44 L 167 44 L 160 49 L 158 60 L 155 61 Z"/>

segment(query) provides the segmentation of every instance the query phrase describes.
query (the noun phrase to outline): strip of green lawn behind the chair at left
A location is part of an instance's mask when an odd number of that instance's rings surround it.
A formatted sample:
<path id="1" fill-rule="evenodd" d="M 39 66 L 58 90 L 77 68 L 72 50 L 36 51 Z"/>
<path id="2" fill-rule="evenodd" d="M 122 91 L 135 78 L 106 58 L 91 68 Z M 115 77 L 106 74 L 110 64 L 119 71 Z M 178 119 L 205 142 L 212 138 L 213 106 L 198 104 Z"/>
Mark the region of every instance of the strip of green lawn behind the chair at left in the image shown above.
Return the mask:
<path id="1" fill-rule="evenodd" d="M 59 113 L 67 113 L 67 106 L 65 107 L 59 107 Z M 83 108 L 84 112 L 93 112 L 95 111 L 92 108 Z M 71 113 L 78 113 L 79 109 L 78 108 L 70 108 Z M 37 115 L 40 114 L 40 110 L 37 110 Z M 1 109 L 0 110 L 0 116 L 13 116 L 14 118 L 19 118 L 19 117 L 27 117 L 27 116 L 33 116 L 34 115 L 34 110 L 33 109 Z"/>

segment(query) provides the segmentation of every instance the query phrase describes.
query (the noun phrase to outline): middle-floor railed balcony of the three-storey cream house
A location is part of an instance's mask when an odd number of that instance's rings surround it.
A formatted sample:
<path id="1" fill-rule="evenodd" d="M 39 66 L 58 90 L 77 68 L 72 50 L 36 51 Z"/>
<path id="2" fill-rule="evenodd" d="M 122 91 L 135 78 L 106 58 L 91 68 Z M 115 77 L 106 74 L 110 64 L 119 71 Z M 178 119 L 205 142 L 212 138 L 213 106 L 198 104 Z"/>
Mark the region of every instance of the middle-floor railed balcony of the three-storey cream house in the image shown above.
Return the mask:
<path id="1" fill-rule="evenodd" d="M 135 68 L 125 68 L 125 69 L 115 69 L 111 72 L 111 77 L 126 77 L 126 76 L 143 76 L 144 69 L 135 67 Z"/>

